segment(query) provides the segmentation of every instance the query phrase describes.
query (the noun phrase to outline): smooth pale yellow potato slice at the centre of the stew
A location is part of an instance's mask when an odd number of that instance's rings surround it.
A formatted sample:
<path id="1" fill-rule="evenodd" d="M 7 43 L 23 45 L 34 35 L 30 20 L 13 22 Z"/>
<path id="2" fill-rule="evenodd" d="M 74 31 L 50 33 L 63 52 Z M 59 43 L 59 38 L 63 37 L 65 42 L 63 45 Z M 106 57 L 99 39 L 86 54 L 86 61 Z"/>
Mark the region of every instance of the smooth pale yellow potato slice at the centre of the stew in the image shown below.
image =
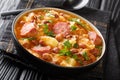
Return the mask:
<path id="1" fill-rule="evenodd" d="M 58 45 L 58 41 L 55 38 L 49 36 L 41 36 L 41 40 L 48 46 L 56 47 Z"/>

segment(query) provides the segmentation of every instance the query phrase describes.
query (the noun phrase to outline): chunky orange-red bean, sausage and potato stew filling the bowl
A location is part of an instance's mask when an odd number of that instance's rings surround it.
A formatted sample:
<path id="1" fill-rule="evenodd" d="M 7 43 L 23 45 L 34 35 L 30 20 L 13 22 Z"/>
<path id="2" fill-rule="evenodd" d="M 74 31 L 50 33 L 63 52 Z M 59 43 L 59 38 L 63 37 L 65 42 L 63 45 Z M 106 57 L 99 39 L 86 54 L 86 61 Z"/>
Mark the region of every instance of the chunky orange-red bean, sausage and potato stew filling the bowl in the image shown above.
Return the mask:
<path id="1" fill-rule="evenodd" d="M 30 11 L 19 17 L 14 32 L 30 54 L 59 66 L 85 66 L 102 53 L 102 38 L 91 25 L 61 10 Z"/>

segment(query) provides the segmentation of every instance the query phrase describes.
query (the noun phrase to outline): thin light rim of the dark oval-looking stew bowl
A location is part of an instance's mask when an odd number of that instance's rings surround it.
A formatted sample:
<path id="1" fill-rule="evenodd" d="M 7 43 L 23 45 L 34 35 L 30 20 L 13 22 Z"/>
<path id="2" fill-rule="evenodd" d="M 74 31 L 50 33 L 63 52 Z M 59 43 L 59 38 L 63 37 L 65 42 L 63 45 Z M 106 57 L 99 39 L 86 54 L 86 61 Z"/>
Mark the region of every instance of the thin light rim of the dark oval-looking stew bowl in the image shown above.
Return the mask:
<path id="1" fill-rule="evenodd" d="M 94 29 L 94 30 L 96 31 L 96 33 L 102 38 L 102 43 L 103 43 L 102 45 L 103 45 L 103 47 L 102 47 L 102 53 L 101 53 L 101 55 L 99 56 L 99 58 L 98 58 L 96 61 L 94 61 L 94 62 L 92 62 L 92 63 L 90 63 L 90 64 L 87 64 L 87 65 L 85 65 L 85 66 L 64 67 L 64 66 L 60 66 L 60 65 L 56 65 L 56 64 L 53 64 L 53 63 L 44 61 L 44 60 L 42 60 L 42 59 L 34 56 L 33 54 L 31 54 L 29 51 L 27 51 L 27 50 L 20 44 L 20 42 L 18 41 L 18 39 L 17 39 L 17 37 L 16 37 L 15 31 L 14 31 L 15 24 L 16 24 L 17 20 L 18 20 L 20 17 L 22 17 L 24 14 L 29 13 L 29 12 L 32 12 L 32 11 L 36 11 L 36 10 L 43 10 L 43 9 L 53 9 L 53 10 L 63 11 L 63 12 L 65 12 L 65 13 L 75 15 L 76 17 L 78 17 L 78 18 L 84 20 L 86 23 L 88 23 L 88 24 L 90 25 L 90 27 L 91 27 L 92 29 Z M 94 65 L 95 63 L 99 62 L 99 61 L 103 58 L 103 56 L 104 56 L 104 54 L 105 54 L 105 49 L 106 49 L 106 43 L 105 43 L 105 40 L 104 40 L 104 38 L 103 38 L 100 30 L 98 30 L 97 27 L 95 27 L 90 21 L 88 21 L 86 18 L 84 18 L 84 17 L 82 17 L 82 16 L 80 16 L 79 14 L 76 14 L 76 13 L 74 13 L 74 12 L 71 12 L 71 11 L 68 11 L 68 10 L 65 10 L 65 9 L 60 9 L 60 8 L 54 8 L 54 7 L 34 8 L 34 9 L 28 9 L 28 10 L 25 10 L 25 11 L 21 12 L 21 13 L 20 13 L 19 15 L 17 15 L 17 16 L 15 17 L 15 19 L 13 20 L 13 23 L 12 23 L 12 35 L 13 35 L 15 41 L 17 42 L 17 44 L 20 45 L 19 47 L 21 47 L 22 49 L 24 49 L 24 50 L 25 50 L 27 53 L 29 53 L 31 56 L 34 56 L 36 59 L 38 59 L 38 60 L 40 60 L 40 61 L 42 61 L 42 62 L 44 62 L 44 63 L 50 64 L 50 65 L 53 65 L 53 66 L 59 67 L 59 68 L 65 68 L 65 69 L 78 69 L 78 68 L 85 68 L 85 67 L 88 67 L 88 66 L 92 66 L 92 65 Z M 16 43 L 15 43 L 15 44 L 16 44 Z"/>

